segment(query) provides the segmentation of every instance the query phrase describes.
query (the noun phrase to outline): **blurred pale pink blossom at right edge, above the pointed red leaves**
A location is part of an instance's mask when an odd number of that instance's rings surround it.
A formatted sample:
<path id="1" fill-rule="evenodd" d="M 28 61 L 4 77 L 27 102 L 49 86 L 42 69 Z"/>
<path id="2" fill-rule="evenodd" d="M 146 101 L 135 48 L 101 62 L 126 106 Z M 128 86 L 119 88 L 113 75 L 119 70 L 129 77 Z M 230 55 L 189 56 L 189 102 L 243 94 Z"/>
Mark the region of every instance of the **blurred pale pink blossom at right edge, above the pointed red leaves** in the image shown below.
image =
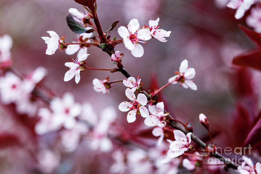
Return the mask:
<path id="1" fill-rule="evenodd" d="M 246 18 L 248 26 L 254 28 L 256 32 L 261 33 L 261 7 L 253 7 L 250 10 L 250 15 Z"/>

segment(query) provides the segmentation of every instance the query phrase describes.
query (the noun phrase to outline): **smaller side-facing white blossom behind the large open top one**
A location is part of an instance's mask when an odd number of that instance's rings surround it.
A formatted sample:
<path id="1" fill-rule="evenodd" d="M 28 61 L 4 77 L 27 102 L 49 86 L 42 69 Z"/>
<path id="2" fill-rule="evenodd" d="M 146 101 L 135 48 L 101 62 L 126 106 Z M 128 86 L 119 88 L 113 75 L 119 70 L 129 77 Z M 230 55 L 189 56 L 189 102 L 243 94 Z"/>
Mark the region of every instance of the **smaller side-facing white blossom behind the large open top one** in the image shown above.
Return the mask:
<path id="1" fill-rule="evenodd" d="M 158 26 L 160 21 L 160 18 L 158 18 L 156 21 L 150 20 L 149 21 L 149 29 L 151 31 L 151 35 L 158 39 L 161 42 L 166 42 L 166 38 L 164 37 L 169 37 L 169 35 L 171 34 L 171 31 L 165 31 L 162 29 L 158 29 L 160 27 L 160 25 Z"/>

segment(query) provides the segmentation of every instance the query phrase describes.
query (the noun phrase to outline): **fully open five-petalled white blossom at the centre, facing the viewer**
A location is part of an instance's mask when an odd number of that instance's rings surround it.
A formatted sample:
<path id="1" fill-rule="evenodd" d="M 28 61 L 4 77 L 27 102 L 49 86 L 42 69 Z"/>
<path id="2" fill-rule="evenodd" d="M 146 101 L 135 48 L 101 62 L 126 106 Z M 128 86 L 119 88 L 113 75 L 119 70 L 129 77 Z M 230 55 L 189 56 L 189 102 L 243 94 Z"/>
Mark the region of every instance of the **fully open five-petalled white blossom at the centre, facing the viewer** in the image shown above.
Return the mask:
<path id="1" fill-rule="evenodd" d="M 139 93 L 138 97 L 136 98 L 135 94 L 130 88 L 127 88 L 125 90 L 125 95 L 127 96 L 128 99 L 131 100 L 131 102 L 122 102 L 119 104 L 119 110 L 126 112 L 128 110 L 131 110 L 128 112 L 127 115 L 127 121 L 129 123 L 132 123 L 136 120 L 136 113 L 140 113 L 140 115 L 144 118 L 148 117 L 149 112 L 148 109 L 145 107 L 147 104 L 147 97 Z"/>

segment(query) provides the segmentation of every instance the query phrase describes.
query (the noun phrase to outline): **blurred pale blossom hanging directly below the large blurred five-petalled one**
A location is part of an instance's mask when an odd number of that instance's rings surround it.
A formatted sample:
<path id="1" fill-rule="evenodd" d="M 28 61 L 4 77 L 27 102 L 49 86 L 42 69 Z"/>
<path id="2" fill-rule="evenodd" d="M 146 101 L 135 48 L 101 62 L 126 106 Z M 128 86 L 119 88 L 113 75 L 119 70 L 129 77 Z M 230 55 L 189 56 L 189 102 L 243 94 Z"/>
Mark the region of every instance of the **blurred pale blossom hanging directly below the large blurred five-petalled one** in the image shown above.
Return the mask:
<path id="1" fill-rule="evenodd" d="M 81 135 L 88 133 L 88 127 L 83 123 L 76 123 L 74 128 L 61 131 L 61 144 L 66 152 L 73 152 L 77 149 Z"/>

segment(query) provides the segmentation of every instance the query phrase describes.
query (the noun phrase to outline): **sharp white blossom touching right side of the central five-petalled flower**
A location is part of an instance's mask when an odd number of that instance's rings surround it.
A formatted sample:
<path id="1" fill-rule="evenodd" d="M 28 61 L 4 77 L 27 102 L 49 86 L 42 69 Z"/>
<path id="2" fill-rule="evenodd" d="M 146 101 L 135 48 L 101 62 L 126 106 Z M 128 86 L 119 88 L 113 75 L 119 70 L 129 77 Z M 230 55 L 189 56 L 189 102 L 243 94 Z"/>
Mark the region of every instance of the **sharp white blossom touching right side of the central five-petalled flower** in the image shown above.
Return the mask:
<path id="1" fill-rule="evenodd" d="M 164 127 L 166 122 L 164 119 L 164 103 L 159 102 L 156 105 L 149 105 L 148 110 L 150 111 L 151 115 L 145 118 L 144 124 L 146 126 L 158 126 Z"/>

